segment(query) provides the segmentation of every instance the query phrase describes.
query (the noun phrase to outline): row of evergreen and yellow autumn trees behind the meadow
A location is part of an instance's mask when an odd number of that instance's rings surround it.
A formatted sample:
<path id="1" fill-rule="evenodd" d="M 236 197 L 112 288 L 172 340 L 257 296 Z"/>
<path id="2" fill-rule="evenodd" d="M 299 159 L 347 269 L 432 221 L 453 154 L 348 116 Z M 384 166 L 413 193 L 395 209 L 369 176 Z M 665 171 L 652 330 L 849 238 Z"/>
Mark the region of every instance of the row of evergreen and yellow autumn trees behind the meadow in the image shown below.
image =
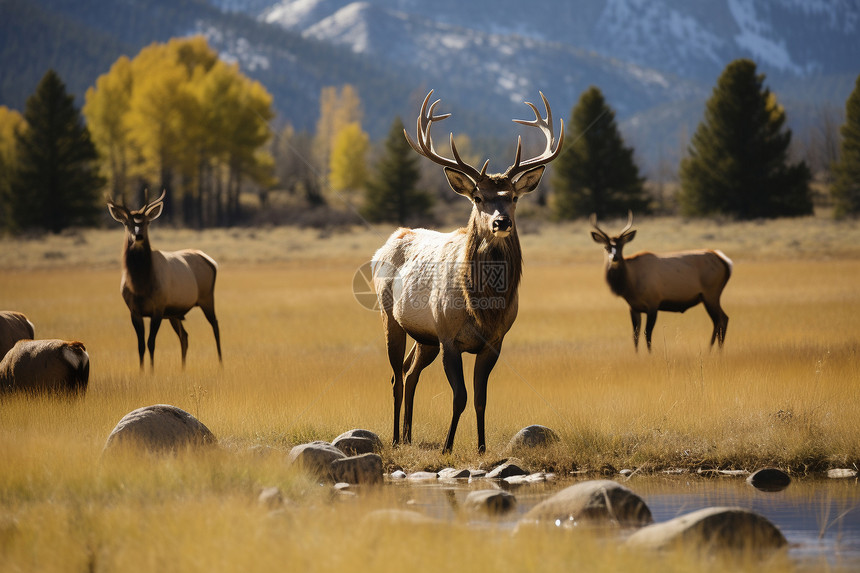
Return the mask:
<path id="1" fill-rule="evenodd" d="M 337 199 L 369 222 L 429 216 L 434 193 L 422 183 L 425 166 L 403 137 L 403 122 L 394 118 L 374 146 L 352 86 L 323 89 L 313 134 L 289 125 L 273 131 L 273 118 L 265 88 L 220 60 L 201 37 L 120 58 L 87 90 L 80 111 L 49 71 L 23 115 L 0 107 L 0 225 L 53 232 L 94 225 L 105 195 L 136 206 L 144 189 L 168 190 L 166 216 L 198 228 L 245 221 L 246 191 L 256 193 L 261 210 L 283 190 L 300 197 L 304 209 Z M 679 165 L 675 210 L 735 219 L 811 214 L 812 174 L 804 161 L 792 161 L 785 122 L 755 63 L 730 63 Z M 549 181 L 555 218 L 654 208 L 599 88 L 582 93 L 567 130 L 573 135 Z M 830 195 L 836 216 L 856 216 L 860 77 L 840 133 Z M 458 149 L 470 155 L 465 135 Z"/>

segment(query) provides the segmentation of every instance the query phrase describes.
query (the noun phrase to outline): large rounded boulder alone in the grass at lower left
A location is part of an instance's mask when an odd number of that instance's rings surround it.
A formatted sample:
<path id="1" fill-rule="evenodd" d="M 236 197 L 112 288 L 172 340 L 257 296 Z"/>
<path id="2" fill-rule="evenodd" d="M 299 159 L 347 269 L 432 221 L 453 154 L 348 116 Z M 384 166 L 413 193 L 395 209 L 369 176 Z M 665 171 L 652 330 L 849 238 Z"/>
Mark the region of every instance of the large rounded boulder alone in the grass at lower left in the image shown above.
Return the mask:
<path id="1" fill-rule="evenodd" d="M 132 446 L 151 452 L 175 453 L 216 442 L 209 428 L 185 410 L 156 404 L 123 416 L 108 436 L 103 452 Z"/>

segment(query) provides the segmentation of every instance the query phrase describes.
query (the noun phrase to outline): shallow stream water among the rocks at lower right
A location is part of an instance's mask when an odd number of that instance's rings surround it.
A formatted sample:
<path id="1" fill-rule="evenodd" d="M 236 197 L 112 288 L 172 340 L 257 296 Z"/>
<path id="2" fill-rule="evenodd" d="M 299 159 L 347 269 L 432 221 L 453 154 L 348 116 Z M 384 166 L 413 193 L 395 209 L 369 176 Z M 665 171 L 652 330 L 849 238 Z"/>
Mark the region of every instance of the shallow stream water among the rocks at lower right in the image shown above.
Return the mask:
<path id="1" fill-rule="evenodd" d="M 757 490 L 739 477 L 642 476 L 618 481 L 645 500 L 655 522 L 705 507 L 743 507 L 767 517 L 782 531 L 789 557 L 800 569 L 827 565 L 860 571 L 860 482 L 856 479 L 794 480 L 779 492 Z M 488 483 L 494 482 L 400 482 L 400 487 L 414 509 L 453 520 L 466 495 L 485 489 Z M 470 523 L 512 529 L 528 510 L 573 483 L 558 480 L 506 487 L 517 498 L 516 511 L 492 521 L 473 518 Z"/>

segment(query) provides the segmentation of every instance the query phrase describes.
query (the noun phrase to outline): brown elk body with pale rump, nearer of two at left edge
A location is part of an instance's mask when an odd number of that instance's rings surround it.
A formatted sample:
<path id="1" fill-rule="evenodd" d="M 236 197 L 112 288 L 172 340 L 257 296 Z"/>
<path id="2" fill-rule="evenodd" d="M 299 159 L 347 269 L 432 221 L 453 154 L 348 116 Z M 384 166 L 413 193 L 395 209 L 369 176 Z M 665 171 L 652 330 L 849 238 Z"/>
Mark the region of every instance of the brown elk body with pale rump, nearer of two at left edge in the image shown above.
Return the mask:
<path id="1" fill-rule="evenodd" d="M 90 357 L 83 343 L 19 340 L 0 360 L 0 391 L 84 393 Z"/>

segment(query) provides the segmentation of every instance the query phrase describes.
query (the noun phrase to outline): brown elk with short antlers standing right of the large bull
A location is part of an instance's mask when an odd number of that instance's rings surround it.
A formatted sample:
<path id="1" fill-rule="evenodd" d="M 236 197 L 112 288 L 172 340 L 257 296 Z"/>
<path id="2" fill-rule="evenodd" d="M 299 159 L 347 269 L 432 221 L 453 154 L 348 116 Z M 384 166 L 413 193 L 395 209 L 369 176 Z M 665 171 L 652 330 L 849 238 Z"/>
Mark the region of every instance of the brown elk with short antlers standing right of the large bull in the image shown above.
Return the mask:
<path id="1" fill-rule="evenodd" d="M 676 253 L 636 253 L 625 257 L 624 245 L 633 240 L 633 212 L 627 215 L 627 225 L 615 237 L 597 226 L 597 216 L 591 215 L 594 230 L 591 238 L 606 249 L 606 282 L 616 295 L 630 305 L 633 320 L 633 345 L 639 350 L 639 329 L 645 313 L 645 342 L 651 351 L 651 333 L 657 322 L 657 311 L 684 312 L 700 302 L 705 305 L 714 323 L 711 346 L 726 339 L 729 317 L 720 306 L 720 295 L 732 275 L 732 261 L 722 251 L 697 250 Z"/>

